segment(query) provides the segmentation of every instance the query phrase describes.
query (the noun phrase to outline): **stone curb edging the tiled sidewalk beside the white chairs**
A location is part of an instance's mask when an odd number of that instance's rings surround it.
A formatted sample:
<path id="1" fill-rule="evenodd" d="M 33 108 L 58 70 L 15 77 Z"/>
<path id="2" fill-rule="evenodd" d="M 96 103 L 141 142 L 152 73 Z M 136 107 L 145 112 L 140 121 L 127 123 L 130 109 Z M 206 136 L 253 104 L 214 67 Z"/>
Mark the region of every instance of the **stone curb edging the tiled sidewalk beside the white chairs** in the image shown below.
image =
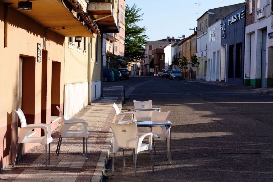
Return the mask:
<path id="1" fill-rule="evenodd" d="M 119 108 L 122 106 L 122 100 L 119 104 L 117 104 Z M 115 121 L 115 117 L 113 119 L 113 122 Z M 103 150 L 100 153 L 99 160 L 97 162 L 95 171 L 93 173 L 93 176 L 91 178 L 92 182 L 102 182 L 103 181 L 103 174 L 105 173 L 106 165 L 108 163 L 110 149 L 112 147 L 112 131 L 111 128 L 107 134 L 106 141 L 103 147 Z"/>

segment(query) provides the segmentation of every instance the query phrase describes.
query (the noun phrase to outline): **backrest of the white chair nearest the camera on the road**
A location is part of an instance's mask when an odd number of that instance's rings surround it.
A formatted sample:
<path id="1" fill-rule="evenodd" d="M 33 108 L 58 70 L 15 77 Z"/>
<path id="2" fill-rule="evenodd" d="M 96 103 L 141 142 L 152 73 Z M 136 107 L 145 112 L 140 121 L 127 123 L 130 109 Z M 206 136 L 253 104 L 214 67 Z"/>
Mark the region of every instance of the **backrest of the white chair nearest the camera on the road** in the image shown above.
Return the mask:
<path id="1" fill-rule="evenodd" d="M 137 126 L 135 122 L 128 124 L 115 124 L 108 121 L 108 123 L 114 135 L 113 146 L 115 146 L 115 149 L 135 148 L 137 138 Z"/>

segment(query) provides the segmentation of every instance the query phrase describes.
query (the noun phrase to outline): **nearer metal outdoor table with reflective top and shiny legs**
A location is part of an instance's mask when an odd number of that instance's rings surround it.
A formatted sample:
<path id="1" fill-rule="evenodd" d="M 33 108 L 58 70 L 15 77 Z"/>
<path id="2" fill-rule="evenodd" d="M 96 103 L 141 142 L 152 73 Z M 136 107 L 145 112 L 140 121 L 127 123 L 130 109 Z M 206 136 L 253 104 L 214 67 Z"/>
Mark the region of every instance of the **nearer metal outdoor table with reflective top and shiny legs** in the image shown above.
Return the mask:
<path id="1" fill-rule="evenodd" d="M 171 164 L 171 121 L 136 121 L 138 127 L 164 126 L 167 129 L 167 158 Z"/>

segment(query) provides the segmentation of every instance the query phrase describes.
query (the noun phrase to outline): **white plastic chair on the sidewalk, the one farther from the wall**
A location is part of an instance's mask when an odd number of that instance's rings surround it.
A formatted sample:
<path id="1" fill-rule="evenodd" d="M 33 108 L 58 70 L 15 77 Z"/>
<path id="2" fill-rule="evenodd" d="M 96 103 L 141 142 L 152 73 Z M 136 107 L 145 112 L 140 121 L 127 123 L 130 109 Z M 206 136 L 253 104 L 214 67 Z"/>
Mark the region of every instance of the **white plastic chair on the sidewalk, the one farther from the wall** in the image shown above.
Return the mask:
<path id="1" fill-rule="evenodd" d="M 89 136 L 89 132 L 87 131 L 88 123 L 83 119 L 65 120 L 64 114 L 61 111 L 61 109 L 58 106 L 56 106 L 56 107 L 60 112 L 61 120 L 62 120 L 59 141 L 58 141 L 58 145 L 57 145 L 57 149 L 56 149 L 57 158 L 59 158 L 59 153 L 60 153 L 60 148 L 61 148 L 61 143 L 62 143 L 63 137 L 83 137 L 83 146 L 84 146 L 84 139 L 85 139 L 85 144 L 86 144 L 86 151 L 85 152 L 84 152 L 84 147 L 83 147 L 83 155 L 85 155 L 85 159 L 87 160 L 88 159 L 87 139 Z M 72 127 L 74 124 L 82 124 L 82 129 L 76 130 L 76 131 L 68 131 L 70 129 L 70 127 Z"/>

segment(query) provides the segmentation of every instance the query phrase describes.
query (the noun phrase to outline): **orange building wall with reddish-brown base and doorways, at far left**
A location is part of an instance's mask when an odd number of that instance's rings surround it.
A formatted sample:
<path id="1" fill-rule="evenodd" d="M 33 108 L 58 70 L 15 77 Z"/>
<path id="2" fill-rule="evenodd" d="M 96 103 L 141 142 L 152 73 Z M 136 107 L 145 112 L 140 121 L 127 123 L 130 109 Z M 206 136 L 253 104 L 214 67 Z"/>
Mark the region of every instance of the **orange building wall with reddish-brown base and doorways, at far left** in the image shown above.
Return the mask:
<path id="1" fill-rule="evenodd" d="M 19 13 L 8 9 L 8 47 L 4 47 L 4 3 L 0 2 L 0 168 L 14 160 L 16 139 L 18 135 L 18 117 L 13 109 L 20 108 L 20 69 L 23 73 L 22 110 L 28 124 L 51 123 L 51 108 L 56 105 L 63 109 L 64 75 L 64 37 L 40 26 L 38 23 Z M 44 36 L 46 31 L 46 46 Z M 37 43 L 41 43 L 42 60 L 37 62 Z M 22 56 L 22 68 L 20 67 Z M 43 64 L 44 63 L 44 64 Z M 52 85 L 52 65 L 59 69 Z M 43 75 L 43 76 L 42 76 Z M 57 82 L 55 82 L 58 80 Z M 52 87 L 53 86 L 53 87 Z M 59 92 L 51 94 L 55 87 Z M 3 89 L 5 88 L 5 89 Z M 53 98 L 54 103 L 51 102 Z M 41 120 L 43 118 L 43 120 Z M 52 130 L 58 125 L 52 124 Z M 41 136 L 41 130 L 35 129 L 34 136 Z M 23 152 L 35 144 L 24 144 Z"/>

